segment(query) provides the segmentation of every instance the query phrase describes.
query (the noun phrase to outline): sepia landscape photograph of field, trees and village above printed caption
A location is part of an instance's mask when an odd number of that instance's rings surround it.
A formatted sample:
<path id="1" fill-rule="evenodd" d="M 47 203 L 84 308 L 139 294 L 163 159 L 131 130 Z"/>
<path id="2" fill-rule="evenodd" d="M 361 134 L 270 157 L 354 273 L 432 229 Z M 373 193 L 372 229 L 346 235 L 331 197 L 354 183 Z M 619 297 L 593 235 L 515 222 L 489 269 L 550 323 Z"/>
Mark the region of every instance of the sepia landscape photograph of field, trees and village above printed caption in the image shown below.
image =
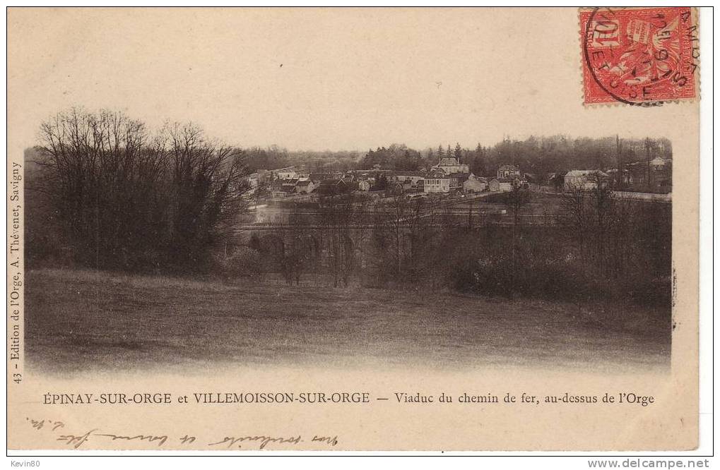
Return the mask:
<path id="1" fill-rule="evenodd" d="M 111 110 L 38 127 L 29 367 L 669 364 L 666 138 L 300 151 Z"/>

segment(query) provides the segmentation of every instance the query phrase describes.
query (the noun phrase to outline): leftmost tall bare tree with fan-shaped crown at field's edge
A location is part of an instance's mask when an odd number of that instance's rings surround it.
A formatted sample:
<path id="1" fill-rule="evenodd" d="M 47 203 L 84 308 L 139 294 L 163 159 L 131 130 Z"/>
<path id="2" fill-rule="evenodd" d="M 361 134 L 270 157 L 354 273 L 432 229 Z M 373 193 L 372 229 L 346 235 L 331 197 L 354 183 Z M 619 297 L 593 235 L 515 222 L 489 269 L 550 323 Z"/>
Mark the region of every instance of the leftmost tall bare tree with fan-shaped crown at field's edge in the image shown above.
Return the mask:
<path id="1" fill-rule="evenodd" d="M 151 195 L 165 158 L 145 126 L 122 113 L 71 109 L 40 131 L 40 188 L 52 196 L 76 260 L 134 267 L 138 257 L 151 256 L 164 202 Z"/>

